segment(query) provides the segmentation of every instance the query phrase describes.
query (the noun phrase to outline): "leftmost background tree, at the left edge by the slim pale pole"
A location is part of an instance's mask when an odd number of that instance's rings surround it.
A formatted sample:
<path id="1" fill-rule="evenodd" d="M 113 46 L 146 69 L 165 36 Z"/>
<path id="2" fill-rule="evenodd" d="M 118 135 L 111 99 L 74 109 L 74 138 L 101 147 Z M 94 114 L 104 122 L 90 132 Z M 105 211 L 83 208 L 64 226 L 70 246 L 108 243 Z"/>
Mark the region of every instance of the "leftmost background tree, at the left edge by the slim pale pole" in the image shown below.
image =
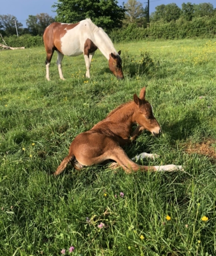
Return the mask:
<path id="1" fill-rule="evenodd" d="M 17 25 L 17 31 L 18 34 L 22 33 L 22 26 L 23 24 L 17 21 L 17 18 L 14 15 L 0 15 L 0 24 L 1 24 L 1 30 L 4 31 L 4 34 L 6 36 L 16 35 L 16 25 Z"/>

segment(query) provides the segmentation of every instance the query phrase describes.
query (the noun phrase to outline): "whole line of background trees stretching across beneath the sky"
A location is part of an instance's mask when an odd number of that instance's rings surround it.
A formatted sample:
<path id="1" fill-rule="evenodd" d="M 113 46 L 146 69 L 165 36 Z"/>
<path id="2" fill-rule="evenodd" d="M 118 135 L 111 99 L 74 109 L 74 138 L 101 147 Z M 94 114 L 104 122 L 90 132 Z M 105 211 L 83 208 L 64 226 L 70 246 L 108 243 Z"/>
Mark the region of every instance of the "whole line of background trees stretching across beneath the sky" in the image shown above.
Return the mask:
<path id="1" fill-rule="evenodd" d="M 216 17 L 216 8 L 211 3 L 192 4 L 183 3 L 181 8 L 176 3 L 161 4 L 150 15 L 150 24 L 147 23 L 147 6 L 137 0 L 128 0 L 123 6 L 117 0 L 58 0 L 52 5 L 56 8 L 56 16 L 46 13 L 29 15 L 26 20 L 27 28 L 14 15 L 0 15 L 0 33 L 3 36 L 16 35 L 16 26 L 19 35 L 42 35 L 44 29 L 52 22 L 76 23 L 85 18 L 91 20 L 107 32 L 113 29 L 126 28 L 130 24 L 147 28 L 149 25 L 177 20 L 192 21 L 193 18 Z M 16 25 L 15 25 L 16 22 Z"/>

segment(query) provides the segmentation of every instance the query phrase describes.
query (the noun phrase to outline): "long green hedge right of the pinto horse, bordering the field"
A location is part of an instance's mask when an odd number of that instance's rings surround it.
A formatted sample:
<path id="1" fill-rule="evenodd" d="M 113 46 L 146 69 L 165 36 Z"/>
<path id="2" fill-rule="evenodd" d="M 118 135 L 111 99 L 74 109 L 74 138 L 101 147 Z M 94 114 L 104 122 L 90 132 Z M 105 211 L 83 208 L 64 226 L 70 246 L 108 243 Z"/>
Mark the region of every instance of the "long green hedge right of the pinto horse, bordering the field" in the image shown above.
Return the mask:
<path id="1" fill-rule="evenodd" d="M 184 39 L 192 37 L 214 37 L 216 35 L 216 17 L 198 17 L 192 21 L 180 18 L 170 23 L 154 22 L 150 28 L 138 28 L 130 24 L 125 29 L 113 30 L 110 38 L 113 42 L 137 41 L 143 39 Z"/>

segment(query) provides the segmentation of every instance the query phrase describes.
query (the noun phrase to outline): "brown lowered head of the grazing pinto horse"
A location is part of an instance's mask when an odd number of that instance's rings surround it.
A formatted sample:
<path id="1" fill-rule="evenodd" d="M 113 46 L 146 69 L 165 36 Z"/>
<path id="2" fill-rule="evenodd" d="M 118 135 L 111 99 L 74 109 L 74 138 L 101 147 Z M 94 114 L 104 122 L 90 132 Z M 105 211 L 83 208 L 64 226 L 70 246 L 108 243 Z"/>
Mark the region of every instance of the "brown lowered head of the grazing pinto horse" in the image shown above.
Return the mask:
<path id="1" fill-rule="evenodd" d="M 112 73 L 117 77 L 117 79 L 123 79 L 123 72 L 122 72 L 122 59 L 119 56 L 121 51 L 119 50 L 118 55 L 111 53 L 109 59 L 109 68 Z"/>

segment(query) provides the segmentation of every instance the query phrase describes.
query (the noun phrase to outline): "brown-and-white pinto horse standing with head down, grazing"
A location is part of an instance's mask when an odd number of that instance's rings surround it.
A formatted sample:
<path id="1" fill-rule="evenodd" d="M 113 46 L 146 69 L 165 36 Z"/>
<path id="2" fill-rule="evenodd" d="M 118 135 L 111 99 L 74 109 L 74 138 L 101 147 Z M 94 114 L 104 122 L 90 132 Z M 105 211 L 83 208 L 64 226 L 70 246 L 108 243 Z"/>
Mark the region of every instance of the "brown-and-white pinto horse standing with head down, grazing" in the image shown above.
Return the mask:
<path id="1" fill-rule="evenodd" d="M 86 77 L 90 78 L 92 56 L 97 48 L 109 61 L 109 68 L 118 78 L 123 79 L 122 59 L 117 53 L 109 36 L 102 28 L 92 23 L 90 18 L 76 24 L 53 22 L 44 31 L 44 45 L 46 49 L 46 79 L 50 81 L 49 66 L 54 50 L 58 53 L 57 66 L 60 79 L 62 74 L 62 60 L 64 55 L 78 56 L 84 54 Z"/>

